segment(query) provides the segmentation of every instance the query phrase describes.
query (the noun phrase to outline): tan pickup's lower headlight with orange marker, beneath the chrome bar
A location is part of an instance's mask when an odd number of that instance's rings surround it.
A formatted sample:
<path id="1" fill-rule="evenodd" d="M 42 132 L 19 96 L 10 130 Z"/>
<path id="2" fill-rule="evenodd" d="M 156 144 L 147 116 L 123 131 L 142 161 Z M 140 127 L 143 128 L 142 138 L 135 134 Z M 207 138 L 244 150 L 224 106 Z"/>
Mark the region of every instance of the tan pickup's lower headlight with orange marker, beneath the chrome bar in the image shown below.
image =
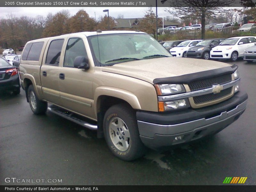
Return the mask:
<path id="1" fill-rule="evenodd" d="M 189 107 L 188 99 L 158 102 L 159 112 L 175 110 L 179 108 L 188 108 L 188 107 Z"/>

